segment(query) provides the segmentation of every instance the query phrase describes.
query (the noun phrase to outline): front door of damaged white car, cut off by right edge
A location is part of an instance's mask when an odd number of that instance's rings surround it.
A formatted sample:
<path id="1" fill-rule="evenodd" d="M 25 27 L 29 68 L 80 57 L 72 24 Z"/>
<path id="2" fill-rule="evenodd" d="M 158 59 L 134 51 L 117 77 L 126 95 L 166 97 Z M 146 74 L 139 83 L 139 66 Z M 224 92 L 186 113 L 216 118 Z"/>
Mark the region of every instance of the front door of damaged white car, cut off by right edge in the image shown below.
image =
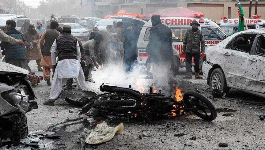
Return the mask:
<path id="1" fill-rule="evenodd" d="M 246 89 L 265 93 L 265 34 L 259 34 L 245 70 Z"/>

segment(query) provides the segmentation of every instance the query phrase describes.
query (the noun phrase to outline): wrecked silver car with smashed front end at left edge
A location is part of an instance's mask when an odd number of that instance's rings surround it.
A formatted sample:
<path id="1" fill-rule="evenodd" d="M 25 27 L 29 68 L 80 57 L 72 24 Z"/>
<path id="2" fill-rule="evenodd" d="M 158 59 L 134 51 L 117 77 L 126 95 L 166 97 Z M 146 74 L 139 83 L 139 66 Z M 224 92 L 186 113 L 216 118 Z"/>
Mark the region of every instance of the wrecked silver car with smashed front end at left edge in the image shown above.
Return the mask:
<path id="1" fill-rule="evenodd" d="M 28 136 L 26 113 L 38 108 L 28 70 L 0 62 L 0 146 L 10 139 L 19 144 Z"/>

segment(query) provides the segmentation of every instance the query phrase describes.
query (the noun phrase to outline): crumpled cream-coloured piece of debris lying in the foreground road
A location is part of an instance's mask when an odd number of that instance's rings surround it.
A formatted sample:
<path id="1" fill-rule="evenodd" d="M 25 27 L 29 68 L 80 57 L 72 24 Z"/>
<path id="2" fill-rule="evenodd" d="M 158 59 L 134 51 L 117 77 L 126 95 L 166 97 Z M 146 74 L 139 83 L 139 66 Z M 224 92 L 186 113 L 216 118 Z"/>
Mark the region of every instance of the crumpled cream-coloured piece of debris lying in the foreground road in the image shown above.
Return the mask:
<path id="1" fill-rule="evenodd" d="M 123 123 L 120 123 L 119 126 L 109 127 L 107 122 L 102 122 L 97 124 L 97 127 L 94 128 L 89 136 L 85 139 L 87 144 L 98 145 L 110 141 L 115 134 L 120 134 L 123 132 Z"/>

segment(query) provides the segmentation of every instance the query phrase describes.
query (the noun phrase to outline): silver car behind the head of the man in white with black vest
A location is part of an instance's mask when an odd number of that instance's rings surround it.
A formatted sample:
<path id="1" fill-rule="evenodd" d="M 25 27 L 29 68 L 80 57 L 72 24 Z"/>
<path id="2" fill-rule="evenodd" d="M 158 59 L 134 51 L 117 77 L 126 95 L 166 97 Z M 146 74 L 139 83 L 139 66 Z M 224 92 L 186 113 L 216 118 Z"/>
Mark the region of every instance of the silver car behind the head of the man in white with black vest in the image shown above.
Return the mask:
<path id="1" fill-rule="evenodd" d="M 80 40 L 87 41 L 89 39 L 90 32 L 92 32 L 91 29 L 83 28 L 80 24 L 77 23 L 59 23 L 60 27 L 62 27 L 63 25 L 70 25 L 72 28 L 71 34 Z"/>

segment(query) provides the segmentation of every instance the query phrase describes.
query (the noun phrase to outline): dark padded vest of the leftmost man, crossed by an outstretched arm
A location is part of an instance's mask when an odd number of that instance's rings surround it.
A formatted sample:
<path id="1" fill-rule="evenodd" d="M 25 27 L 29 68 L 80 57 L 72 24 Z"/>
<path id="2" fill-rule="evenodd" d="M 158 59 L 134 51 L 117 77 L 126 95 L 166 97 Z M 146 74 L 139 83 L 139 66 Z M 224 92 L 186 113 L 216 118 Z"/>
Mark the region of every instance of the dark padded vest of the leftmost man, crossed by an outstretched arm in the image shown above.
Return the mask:
<path id="1" fill-rule="evenodd" d="M 16 28 L 10 28 L 6 32 L 7 35 L 12 36 L 15 39 L 21 39 L 25 41 L 24 35 L 16 30 Z M 1 49 L 6 49 L 6 60 L 11 59 L 26 59 L 25 46 L 19 44 L 11 44 L 8 42 L 1 42 Z"/>

